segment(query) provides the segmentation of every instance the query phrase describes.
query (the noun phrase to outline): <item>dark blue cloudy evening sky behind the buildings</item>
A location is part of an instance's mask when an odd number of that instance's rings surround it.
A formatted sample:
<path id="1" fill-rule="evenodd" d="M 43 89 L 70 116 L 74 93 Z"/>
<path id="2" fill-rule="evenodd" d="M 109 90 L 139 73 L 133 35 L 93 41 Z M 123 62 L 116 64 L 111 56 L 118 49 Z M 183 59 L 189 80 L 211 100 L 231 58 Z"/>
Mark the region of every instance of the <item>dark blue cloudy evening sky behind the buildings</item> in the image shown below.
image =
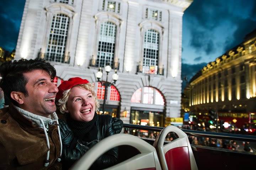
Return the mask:
<path id="1" fill-rule="evenodd" d="M 16 48 L 24 5 L 1 0 L 0 46 L 8 51 Z M 183 15 L 182 78 L 190 80 L 255 28 L 255 0 L 194 0 Z"/>

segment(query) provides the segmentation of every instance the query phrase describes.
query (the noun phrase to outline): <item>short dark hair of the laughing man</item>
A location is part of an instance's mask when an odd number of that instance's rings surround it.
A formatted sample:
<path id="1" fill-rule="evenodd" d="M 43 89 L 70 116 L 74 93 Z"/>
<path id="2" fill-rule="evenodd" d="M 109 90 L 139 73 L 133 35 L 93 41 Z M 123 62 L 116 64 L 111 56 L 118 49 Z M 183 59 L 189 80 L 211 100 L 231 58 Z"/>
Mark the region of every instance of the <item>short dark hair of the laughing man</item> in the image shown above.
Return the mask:
<path id="1" fill-rule="evenodd" d="M 4 91 L 5 95 L 15 104 L 18 103 L 11 98 L 12 91 L 22 92 L 25 96 L 28 96 L 26 89 L 27 79 L 23 73 L 31 72 L 33 70 L 45 70 L 52 79 L 56 76 L 55 68 L 50 63 L 41 59 L 21 59 L 15 61 L 9 61 L 3 63 L 0 67 L 1 81 L 0 87 Z"/>

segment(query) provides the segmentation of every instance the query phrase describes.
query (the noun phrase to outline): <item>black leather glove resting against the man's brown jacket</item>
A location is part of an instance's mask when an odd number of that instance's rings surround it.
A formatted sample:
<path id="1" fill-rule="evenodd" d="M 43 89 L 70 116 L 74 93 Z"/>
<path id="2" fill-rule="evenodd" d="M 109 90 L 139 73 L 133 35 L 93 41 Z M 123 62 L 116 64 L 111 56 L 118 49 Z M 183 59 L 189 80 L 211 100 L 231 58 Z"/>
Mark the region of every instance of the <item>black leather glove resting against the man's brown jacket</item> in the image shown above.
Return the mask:
<path id="1" fill-rule="evenodd" d="M 59 119 L 59 125 L 60 125 L 60 135 L 62 138 L 62 144 L 69 146 L 74 140 L 74 134 L 71 131 L 71 129 L 69 129 L 68 124 L 66 124 L 64 120 Z"/>

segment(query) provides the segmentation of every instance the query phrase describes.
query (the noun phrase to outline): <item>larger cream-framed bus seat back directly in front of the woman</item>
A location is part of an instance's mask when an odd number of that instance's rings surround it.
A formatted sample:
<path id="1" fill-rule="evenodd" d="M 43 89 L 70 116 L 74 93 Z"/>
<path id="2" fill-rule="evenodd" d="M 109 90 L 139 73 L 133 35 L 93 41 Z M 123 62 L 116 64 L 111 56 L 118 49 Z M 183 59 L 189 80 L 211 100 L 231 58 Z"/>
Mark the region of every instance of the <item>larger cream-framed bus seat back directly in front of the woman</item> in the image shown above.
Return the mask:
<path id="1" fill-rule="evenodd" d="M 72 170 L 87 170 L 103 153 L 113 147 L 129 145 L 140 152 L 132 158 L 118 163 L 106 170 L 161 170 L 156 149 L 139 137 L 128 134 L 116 134 L 104 138 L 86 152 L 71 168 Z M 126 154 L 126 153 L 119 153 Z"/>

